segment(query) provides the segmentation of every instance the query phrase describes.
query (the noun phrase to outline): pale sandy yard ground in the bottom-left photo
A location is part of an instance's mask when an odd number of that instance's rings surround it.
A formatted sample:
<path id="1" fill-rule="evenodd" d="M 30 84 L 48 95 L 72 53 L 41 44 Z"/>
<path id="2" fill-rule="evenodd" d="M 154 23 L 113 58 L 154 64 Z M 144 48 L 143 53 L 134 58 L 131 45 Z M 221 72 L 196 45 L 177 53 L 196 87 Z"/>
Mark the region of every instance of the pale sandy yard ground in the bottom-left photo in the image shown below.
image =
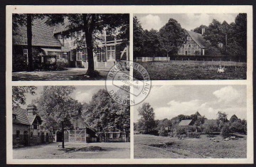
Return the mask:
<path id="1" fill-rule="evenodd" d="M 65 143 L 65 149 L 58 147 L 60 143 L 43 144 L 13 149 L 14 159 L 60 159 L 60 158 L 130 158 L 130 143 Z M 101 147 L 102 150 L 74 151 L 74 148 Z M 85 150 L 85 149 L 84 149 Z"/>

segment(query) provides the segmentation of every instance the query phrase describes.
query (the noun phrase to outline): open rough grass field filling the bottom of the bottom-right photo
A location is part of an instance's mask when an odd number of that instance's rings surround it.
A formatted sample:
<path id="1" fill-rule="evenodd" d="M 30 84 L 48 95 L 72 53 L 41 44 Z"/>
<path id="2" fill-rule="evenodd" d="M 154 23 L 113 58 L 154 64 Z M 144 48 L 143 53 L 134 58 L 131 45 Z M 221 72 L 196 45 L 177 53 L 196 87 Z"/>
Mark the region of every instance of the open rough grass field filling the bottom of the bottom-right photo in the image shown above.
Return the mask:
<path id="1" fill-rule="evenodd" d="M 206 135 L 200 139 L 134 134 L 134 158 L 246 158 L 246 135 L 236 140 L 213 142 Z M 168 142 L 163 146 L 161 143 Z"/>

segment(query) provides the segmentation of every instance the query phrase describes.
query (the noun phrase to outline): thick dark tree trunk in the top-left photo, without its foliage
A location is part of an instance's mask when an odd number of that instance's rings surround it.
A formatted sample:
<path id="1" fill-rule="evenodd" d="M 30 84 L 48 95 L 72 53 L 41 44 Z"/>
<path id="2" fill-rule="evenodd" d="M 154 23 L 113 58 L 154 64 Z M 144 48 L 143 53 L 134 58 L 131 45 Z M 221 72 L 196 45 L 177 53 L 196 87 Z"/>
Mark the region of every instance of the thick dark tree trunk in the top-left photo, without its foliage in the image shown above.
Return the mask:
<path id="1" fill-rule="evenodd" d="M 93 21 L 94 18 L 92 18 Z M 88 54 L 88 69 L 86 74 L 92 76 L 95 73 L 94 60 L 93 60 L 93 43 L 92 43 L 92 26 L 93 23 L 89 23 L 88 14 L 82 14 L 82 21 L 84 23 L 83 31 L 85 32 L 85 43 Z"/>

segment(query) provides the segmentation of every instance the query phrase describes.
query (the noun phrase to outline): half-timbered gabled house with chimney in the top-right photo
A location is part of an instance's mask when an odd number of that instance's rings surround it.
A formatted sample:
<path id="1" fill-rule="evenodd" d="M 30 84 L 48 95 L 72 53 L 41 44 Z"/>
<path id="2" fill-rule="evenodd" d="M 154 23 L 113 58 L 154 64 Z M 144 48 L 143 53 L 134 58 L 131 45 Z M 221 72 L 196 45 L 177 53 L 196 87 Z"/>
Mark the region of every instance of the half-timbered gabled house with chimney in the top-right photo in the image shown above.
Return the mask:
<path id="1" fill-rule="evenodd" d="M 186 31 L 186 42 L 178 48 L 178 55 L 205 55 L 209 44 L 203 39 L 202 34 Z"/>

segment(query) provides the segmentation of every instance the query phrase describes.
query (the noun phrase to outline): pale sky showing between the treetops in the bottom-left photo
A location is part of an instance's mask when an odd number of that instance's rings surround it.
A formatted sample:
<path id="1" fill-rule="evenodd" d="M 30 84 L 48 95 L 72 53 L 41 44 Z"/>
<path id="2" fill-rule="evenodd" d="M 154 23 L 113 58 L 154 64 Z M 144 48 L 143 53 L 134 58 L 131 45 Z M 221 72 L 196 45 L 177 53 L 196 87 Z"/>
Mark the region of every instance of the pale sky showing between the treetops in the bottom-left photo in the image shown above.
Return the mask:
<path id="1" fill-rule="evenodd" d="M 92 95 L 95 94 L 98 90 L 105 89 L 105 86 L 75 86 L 75 90 L 72 94 L 74 99 L 77 99 L 78 102 L 90 102 Z M 21 108 L 26 109 L 28 104 L 32 103 L 33 99 L 36 99 L 41 95 L 43 90 L 42 86 L 39 86 L 36 90 L 36 95 L 26 94 L 26 104 L 21 105 Z"/>

